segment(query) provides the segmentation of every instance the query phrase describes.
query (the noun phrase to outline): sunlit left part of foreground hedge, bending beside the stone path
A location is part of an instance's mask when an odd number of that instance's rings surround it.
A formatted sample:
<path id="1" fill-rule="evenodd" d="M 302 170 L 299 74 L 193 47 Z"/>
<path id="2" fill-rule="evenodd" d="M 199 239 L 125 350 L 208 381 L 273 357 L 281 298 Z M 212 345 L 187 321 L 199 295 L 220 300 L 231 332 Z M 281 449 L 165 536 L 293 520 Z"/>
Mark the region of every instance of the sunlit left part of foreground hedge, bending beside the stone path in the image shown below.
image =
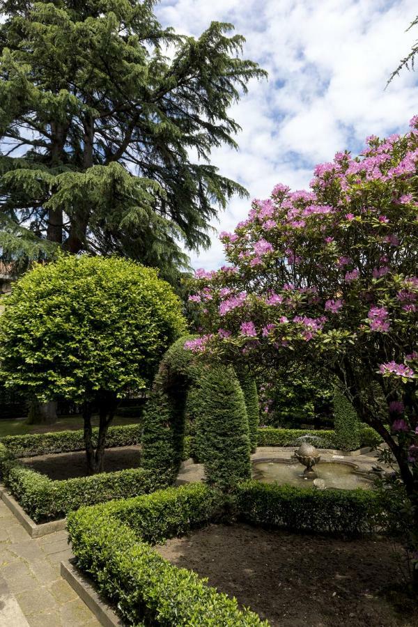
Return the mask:
<path id="1" fill-rule="evenodd" d="M 235 598 L 208 587 L 196 573 L 173 566 L 139 540 L 155 541 L 207 522 L 217 500 L 207 486 L 191 484 L 68 516 L 79 567 L 118 607 L 127 625 L 268 627 L 254 612 L 240 610 Z"/>

